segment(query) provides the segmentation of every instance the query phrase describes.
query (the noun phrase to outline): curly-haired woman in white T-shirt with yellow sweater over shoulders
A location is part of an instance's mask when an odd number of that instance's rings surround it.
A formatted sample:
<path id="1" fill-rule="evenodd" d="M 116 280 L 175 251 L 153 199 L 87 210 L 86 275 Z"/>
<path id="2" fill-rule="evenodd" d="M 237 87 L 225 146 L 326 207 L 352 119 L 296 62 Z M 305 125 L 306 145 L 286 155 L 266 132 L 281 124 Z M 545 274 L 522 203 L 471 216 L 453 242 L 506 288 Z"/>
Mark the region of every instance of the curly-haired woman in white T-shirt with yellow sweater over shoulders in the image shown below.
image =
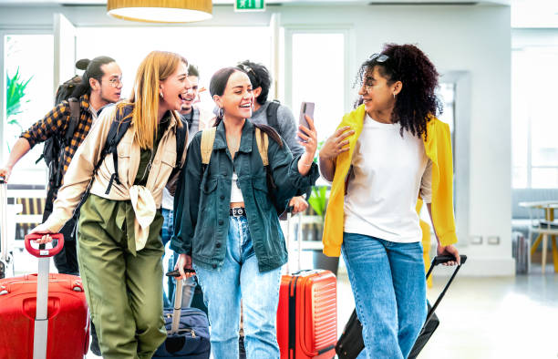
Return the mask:
<path id="1" fill-rule="evenodd" d="M 333 180 L 324 253 L 343 253 L 365 351 L 407 358 L 427 314 L 421 231 L 415 205 L 429 210 L 438 254 L 457 241 L 449 126 L 435 116 L 438 72 L 417 46 L 389 44 L 362 65 L 363 104 L 346 114 L 320 150 Z"/>

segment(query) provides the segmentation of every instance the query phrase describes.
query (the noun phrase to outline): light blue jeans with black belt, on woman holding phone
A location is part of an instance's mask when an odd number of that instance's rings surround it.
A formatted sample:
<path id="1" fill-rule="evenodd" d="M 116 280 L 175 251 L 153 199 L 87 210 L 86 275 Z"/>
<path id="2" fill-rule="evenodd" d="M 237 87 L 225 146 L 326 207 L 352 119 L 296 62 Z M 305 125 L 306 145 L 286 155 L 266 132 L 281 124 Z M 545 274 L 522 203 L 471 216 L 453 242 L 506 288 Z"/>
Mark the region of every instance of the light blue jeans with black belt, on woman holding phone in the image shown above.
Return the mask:
<path id="1" fill-rule="evenodd" d="M 230 217 L 222 268 L 208 270 L 194 262 L 194 269 L 212 323 L 213 357 L 238 359 L 242 297 L 246 357 L 279 358 L 276 320 L 281 268 L 269 272 L 258 270 L 246 217 Z"/>

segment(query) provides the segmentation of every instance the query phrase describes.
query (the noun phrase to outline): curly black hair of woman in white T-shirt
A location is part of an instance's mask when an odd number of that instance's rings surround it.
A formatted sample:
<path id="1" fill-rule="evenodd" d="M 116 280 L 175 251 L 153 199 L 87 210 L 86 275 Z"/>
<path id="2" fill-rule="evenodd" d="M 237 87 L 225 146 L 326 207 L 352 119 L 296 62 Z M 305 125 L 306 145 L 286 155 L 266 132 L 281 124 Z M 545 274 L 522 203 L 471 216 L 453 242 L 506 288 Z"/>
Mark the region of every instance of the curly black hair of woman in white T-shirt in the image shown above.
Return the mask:
<path id="1" fill-rule="evenodd" d="M 387 78 L 388 84 L 401 81 L 403 87 L 391 119 L 401 125 L 401 136 L 404 130 L 408 130 L 418 138 L 422 135 L 426 137 L 429 115 L 439 116 L 442 112 L 442 103 L 435 94 L 439 77 L 436 67 L 414 45 L 386 44 L 381 55 L 387 55 L 387 60 L 381 61 L 381 56 L 371 56 L 362 64 L 356 83 L 362 86 L 364 75 L 367 71 L 373 71 L 374 67 L 378 68 L 382 77 Z"/>

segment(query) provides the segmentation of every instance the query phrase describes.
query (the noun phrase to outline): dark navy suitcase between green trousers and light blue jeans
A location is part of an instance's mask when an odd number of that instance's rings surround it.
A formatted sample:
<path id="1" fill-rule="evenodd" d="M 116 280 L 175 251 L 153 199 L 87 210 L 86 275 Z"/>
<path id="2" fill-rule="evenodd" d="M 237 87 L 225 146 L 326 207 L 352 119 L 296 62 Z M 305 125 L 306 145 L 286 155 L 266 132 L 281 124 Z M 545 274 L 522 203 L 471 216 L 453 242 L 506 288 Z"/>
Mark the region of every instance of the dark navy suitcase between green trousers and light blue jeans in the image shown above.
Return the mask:
<path id="1" fill-rule="evenodd" d="M 182 309 L 182 283 L 177 282 L 174 309 L 163 312 L 167 339 L 153 354 L 157 358 L 209 359 L 209 321 L 197 308 Z"/>

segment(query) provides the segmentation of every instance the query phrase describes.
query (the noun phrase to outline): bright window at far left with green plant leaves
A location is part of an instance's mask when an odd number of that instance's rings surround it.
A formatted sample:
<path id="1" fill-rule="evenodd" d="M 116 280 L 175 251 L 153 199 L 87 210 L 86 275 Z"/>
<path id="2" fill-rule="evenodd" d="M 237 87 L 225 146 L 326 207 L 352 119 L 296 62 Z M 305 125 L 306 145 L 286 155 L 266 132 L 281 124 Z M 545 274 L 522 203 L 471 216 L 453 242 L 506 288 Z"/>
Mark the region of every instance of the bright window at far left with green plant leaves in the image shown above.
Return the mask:
<path id="1" fill-rule="evenodd" d="M 6 35 L 4 36 L 5 115 L 3 154 L 4 160 L 23 130 L 43 118 L 54 106 L 53 96 L 53 36 L 52 35 Z M 19 93 L 19 95 L 17 95 Z M 42 152 L 37 145 L 15 167 L 11 183 L 45 184 L 47 169 L 41 161 L 35 161 Z"/>

